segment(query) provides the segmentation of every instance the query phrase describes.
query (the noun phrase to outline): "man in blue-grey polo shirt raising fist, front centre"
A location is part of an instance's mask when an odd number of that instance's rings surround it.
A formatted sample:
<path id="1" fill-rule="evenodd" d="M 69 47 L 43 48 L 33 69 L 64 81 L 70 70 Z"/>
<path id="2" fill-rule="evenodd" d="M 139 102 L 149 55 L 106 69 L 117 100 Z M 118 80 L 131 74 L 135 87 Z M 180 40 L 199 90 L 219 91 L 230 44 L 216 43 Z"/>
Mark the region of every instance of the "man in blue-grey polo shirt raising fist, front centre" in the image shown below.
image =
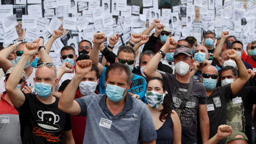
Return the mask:
<path id="1" fill-rule="evenodd" d="M 106 69 L 106 94 L 74 100 L 76 87 L 91 66 L 91 60 L 77 61 L 76 74 L 58 106 L 68 114 L 86 117 L 83 143 L 155 143 L 156 131 L 149 110 L 127 93 L 132 74 L 123 63 L 113 63 Z"/>

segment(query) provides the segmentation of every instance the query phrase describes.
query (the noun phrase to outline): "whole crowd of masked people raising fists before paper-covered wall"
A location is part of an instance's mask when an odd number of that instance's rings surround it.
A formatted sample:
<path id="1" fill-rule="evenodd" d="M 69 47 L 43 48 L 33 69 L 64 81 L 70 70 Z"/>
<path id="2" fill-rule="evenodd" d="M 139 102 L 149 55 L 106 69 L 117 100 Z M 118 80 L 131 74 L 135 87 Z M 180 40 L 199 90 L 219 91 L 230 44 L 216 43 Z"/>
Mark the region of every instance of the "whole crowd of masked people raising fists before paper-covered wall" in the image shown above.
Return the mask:
<path id="1" fill-rule="evenodd" d="M 99 32 L 55 66 L 61 35 L 0 49 L 0 143 L 253 143 L 256 41 L 246 52 L 228 31 L 177 42 L 156 19 L 117 54 L 119 35 L 105 47 Z"/>

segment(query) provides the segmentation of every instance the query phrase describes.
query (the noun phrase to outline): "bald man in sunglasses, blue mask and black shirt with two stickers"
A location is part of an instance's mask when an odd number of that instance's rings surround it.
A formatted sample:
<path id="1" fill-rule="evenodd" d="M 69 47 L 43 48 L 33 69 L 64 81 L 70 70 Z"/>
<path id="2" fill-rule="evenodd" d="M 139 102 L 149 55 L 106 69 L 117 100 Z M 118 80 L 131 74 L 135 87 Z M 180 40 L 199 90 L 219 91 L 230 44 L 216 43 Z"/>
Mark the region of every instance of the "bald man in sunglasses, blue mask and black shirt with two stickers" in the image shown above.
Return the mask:
<path id="1" fill-rule="evenodd" d="M 226 124 L 227 102 L 234 94 L 239 92 L 245 83 L 249 80 L 248 72 L 235 50 L 225 51 L 230 59 L 234 59 L 240 77 L 231 84 L 216 87 L 219 76 L 218 70 L 214 66 L 206 66 L 200 75 L 201 82 L 206 89 L 207 112 L 210 119 L 210 138 L 217 133 L 217 127 Z M 222 140 L 221 143 L 225 142 Z"/>

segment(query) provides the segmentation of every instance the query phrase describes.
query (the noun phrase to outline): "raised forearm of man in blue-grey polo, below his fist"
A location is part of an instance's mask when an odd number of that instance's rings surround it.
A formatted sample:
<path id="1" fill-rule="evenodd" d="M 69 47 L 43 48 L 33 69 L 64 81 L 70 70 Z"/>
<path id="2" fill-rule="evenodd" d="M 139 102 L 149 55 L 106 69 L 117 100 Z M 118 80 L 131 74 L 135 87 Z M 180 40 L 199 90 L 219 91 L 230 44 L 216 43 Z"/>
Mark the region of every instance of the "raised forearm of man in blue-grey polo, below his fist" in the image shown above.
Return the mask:
<path id="1" fill-rule="evenodd" d="M 66 87 L 66 89 L 61 94 L 58 107 L 62 111 L 67 111 L 73 106 L 76 89 L 81 83 L 82 79 L 83 79 L 83 76 L 75 75 L 74 78 L 70 81 L 70 83 Z"/>

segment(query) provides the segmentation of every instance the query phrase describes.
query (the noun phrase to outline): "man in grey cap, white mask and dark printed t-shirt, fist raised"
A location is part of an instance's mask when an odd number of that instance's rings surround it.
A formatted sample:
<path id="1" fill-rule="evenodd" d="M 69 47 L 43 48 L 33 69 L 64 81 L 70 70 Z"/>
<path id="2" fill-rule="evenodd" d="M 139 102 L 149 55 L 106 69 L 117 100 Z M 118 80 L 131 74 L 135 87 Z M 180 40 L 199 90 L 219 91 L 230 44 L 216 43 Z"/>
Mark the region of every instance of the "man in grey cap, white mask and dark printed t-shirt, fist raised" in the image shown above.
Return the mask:
<path id="1" fill-rule="evenodd" d="M 176 47 L 178 42 L 174 38 L 167 38 L 164 46 L 150 59 L 144 69 L 148 78 L 160 77 L 166 82 L 167 96 L 172 100 L 172 109 L 178 111 L 180 117 L 182 143 L 196 143 L 197 122 L 199 117 L 203 142 L 209 139 L 209 118 L 206 110 L 206 93 L 202 83 L 190 78 L 189 72 L 193 69 L 193 53 L 188 47 L 179 47 L 175 50 L 174 66 L 176 73 L 158 73 L 156 71 L 159 61 L 166 51 Z M 190 83 L 191 82 L 191 83 Z M 187 91 L 191 85 L 190 92 Z M 187 97 L 188 96 L 188 97 Z M 186 101 L 185 101 L 186 100 Z M 180 109 L 180 107 L 182 107 Z"/>

